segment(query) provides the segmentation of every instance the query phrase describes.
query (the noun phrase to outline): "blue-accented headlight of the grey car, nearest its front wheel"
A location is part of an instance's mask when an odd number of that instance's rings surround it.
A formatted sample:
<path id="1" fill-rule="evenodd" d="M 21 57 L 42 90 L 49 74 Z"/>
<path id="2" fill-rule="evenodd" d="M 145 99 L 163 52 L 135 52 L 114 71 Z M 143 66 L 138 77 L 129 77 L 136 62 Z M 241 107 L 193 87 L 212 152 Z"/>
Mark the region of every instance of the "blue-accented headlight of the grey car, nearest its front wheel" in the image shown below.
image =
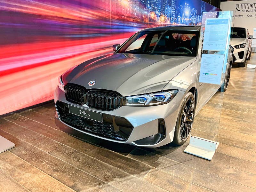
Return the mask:
<path id="1" fill-rule="evenodd" d="M 124 106 L 152 106 L 169 103 L 178 90 L 124 97 Z"/>

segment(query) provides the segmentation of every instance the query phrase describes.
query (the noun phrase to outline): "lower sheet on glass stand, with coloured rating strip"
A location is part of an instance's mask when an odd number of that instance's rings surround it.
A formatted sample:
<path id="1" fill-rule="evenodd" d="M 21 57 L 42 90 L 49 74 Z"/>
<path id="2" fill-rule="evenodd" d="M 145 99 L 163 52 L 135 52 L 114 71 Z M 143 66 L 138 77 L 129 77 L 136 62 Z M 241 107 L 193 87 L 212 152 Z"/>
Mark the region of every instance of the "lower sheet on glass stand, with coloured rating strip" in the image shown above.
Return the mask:
<path id="1" fill-rule="evenodd" d="M 202 54 L 199 82 L 220 84 L 225 55 Z"/>

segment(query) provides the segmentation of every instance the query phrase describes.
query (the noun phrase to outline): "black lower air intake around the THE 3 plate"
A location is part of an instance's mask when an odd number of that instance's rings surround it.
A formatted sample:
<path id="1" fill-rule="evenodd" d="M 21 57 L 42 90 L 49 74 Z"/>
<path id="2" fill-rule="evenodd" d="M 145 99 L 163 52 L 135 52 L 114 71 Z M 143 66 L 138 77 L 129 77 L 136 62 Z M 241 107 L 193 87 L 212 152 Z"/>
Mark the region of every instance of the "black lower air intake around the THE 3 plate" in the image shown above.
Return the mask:
<path id="1" fill-rule="evenodd" d="M 99 135 L 101 137 L 125 141 L 128 139 L 133 129 L 133 126 L 122 117 L 102 114 L 103 122 L 100 123 L 69 113 L 67 103 L 57 101 L 56 108 L 60 120 L 64 123 L 76 129 L 89 132 L 94 135 Z"/>

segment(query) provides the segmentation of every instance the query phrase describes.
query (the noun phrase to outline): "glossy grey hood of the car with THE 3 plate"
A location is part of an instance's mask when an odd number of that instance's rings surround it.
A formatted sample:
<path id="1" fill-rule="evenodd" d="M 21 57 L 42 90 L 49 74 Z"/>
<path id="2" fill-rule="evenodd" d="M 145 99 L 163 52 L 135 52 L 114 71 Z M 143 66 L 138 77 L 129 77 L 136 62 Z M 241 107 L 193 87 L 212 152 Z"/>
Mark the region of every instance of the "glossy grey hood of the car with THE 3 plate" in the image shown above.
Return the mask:
<path id="1" fill-rule="evenodd" d="M 114 53 L 88 60 L 62 75 L 64 84 L 116 91 L 123 96 L 161 91 L 196 57 Z M 89 86 L 90 81 L 95 81 Z"/>

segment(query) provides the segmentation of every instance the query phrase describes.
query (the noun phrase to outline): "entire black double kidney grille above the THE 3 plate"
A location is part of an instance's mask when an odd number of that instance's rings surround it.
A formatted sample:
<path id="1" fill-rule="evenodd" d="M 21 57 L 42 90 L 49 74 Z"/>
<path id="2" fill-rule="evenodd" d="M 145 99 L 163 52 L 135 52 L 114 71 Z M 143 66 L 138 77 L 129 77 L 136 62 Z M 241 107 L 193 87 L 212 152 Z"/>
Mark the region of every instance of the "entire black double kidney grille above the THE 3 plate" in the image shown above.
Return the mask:
<path id="1" fill-rule="evenodd" d="M 122 97 L 113 92 L 88 91 L 86 88 L 74 84 L 67 84 L 64 89 L 66 100 L 79 105 L 86 103 L 90 108 L 110 111 L 119 108 L 122 103 Z"/>

